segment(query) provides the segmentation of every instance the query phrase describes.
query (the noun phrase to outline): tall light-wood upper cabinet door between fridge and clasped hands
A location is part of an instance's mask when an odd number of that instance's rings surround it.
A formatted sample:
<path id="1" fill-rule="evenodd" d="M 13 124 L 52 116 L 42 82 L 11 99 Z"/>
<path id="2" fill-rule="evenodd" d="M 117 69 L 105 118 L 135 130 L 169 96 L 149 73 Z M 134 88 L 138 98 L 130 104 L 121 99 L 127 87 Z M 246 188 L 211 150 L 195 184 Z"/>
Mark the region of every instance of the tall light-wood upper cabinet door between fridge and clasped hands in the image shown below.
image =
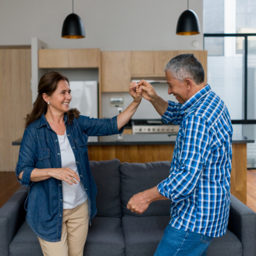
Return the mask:
<path id="1" fill-rule="evenodd" d="M 101 92 L 128 92 L 131 52 L 101 52 Z"/>

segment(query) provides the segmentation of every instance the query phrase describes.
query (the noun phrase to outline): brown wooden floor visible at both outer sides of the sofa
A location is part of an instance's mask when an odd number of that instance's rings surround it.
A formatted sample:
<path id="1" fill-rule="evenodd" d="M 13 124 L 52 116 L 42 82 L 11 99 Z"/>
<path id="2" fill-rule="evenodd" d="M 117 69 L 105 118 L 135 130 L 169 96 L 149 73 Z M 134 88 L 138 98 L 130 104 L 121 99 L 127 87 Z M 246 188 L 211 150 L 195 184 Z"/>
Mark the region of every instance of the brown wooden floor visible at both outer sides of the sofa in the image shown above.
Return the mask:
<path id="1" fill-rule="evenodd" d="M 19 187 L 15 173 L 0 172 L 0 207 Z M 256 170 L 247 171 L 247 206 L 256 212 Z"/>

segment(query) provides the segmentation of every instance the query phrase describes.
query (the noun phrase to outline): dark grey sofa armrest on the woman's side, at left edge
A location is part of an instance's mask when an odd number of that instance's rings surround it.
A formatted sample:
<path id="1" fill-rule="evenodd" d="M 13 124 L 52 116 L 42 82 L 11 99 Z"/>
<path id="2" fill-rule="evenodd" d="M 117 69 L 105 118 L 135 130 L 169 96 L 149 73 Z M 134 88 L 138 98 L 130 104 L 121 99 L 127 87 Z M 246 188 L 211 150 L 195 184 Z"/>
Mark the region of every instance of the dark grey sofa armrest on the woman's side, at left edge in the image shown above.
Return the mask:
<path id="1" fill-rule="evenodd" d="M 29 188 L 22 186 L 0 208 L 0 255 L 9 256 L 9 244 L 25 221 L 24 202 Z"/>

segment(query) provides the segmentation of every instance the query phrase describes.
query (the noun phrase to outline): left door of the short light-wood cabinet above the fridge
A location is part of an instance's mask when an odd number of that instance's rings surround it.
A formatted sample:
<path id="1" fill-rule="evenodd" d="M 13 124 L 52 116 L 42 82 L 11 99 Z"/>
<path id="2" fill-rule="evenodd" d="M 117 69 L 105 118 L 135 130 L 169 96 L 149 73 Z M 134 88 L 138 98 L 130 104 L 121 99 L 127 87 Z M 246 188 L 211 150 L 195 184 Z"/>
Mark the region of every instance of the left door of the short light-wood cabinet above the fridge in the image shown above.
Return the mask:
<path id="1" fill-rule="evenodd" d="M 66 68 L 68 66 L 68 49 L 39 49 L 39 68 Z"/>

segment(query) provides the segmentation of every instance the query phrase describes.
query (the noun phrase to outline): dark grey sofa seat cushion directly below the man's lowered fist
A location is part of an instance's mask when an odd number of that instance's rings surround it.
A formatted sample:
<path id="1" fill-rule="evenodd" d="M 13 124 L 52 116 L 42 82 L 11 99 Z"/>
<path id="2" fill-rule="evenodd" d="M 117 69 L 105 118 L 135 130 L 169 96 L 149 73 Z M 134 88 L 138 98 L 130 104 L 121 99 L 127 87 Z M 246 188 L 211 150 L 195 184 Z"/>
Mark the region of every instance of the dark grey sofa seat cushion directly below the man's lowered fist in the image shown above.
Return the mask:
<path id="1" fill-rule="evenodd" d="M 124 216 L 125 256 L 153 256 L 169 221 L 169 216 Z"/>

